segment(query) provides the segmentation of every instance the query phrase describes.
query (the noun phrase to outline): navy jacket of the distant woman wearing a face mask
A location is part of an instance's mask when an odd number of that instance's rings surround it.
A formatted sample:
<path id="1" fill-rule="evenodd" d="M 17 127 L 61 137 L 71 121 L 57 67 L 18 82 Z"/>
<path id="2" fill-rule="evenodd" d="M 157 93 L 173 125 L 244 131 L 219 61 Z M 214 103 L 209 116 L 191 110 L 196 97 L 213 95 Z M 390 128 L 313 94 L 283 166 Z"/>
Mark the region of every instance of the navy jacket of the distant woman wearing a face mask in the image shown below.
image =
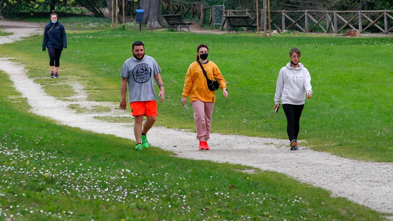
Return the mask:
<path id="1" fill-rule="evenodd" d="M 42 51 L 46 47 L 67 48 L 66 30 L 64 26 L 57 21 L 53 24 L 51 21 L 45 26 L 44 41 L 42 41 Z"/>

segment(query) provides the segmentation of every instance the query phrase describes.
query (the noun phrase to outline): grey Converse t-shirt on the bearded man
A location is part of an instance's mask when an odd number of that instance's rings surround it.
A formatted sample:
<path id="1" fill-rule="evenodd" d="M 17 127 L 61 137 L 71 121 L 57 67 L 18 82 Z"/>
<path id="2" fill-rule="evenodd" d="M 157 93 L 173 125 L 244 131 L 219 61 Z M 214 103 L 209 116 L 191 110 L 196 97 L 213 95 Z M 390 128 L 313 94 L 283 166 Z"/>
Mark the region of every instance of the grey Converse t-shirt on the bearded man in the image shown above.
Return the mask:
<path id="1" fill-rule="evenodd" d="M 150 56 L 145 55 L 142 60 L 134 57 L 127 59 L 121 68 L 120 76 L 128 77 L 128 102 L 156 101 L 154 76 L 160 72 L 156 60 Z"/>

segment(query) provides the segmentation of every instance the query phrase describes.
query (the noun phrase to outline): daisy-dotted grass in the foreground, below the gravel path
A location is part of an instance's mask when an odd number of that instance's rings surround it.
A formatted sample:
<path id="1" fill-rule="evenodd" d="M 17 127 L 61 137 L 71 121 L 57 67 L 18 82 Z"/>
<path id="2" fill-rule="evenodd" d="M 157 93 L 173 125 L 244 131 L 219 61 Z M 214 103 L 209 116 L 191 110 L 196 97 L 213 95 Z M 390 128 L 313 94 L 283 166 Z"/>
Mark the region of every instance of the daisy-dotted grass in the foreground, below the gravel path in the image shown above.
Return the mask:
<path id="1" fill-rule="evenodd" d="M 58 125 L 11 85 L 0 72 L 0 220 L 386 220 L 280 173 Z"/>

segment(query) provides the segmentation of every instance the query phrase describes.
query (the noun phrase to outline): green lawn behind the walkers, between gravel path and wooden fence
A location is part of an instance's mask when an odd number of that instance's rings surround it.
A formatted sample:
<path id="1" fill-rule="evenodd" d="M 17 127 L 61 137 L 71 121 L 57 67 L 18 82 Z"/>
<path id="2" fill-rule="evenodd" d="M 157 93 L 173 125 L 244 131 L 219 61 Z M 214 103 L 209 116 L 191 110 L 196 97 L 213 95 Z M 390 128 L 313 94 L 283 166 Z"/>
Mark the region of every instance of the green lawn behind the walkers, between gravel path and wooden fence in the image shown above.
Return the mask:
<path id="1" fill-rule="evenodd" d="M 78 81 L 88 90 L 89 99 L 118 103 L 121 66 L 132 56 L 132 42 L 144 41 L 146 54 L 157 60 L 165 84 L 166 100 L 159 104 L 156 125 L 194 129 L 193 110 L 190 104 L 182 107 L 180 96 L 196 46 L 205 43 L 230 94 L 224 100 L 221 90 L 217 91 L 212 131 L 286 139 L 285 115 L 272 110 L 275 81 L 279 69 L 289 61 L 290 48 L 298 47 L 314 90 L 312 99 L 306 101 L 299 133 L 299 139 L 308 143 L 301 145 L 359 160 L 393 161 L 392 38 L 139 33 L 135 27 L 99 27 L 97 31 L 88 29 L 97 29 L 95 23 L 79 24 L 72 19 L 63 22 L 68 48 L 62 53 L 58 84 L 43 78 L 49 68 L 47 52 L 40 51 L 42 36 L 0 46 L 0 55 L 21 58 L 17 61 L 26 64 L 28 75 L 37 78 L 44 89 L 59 89 L 51 92 L 54 96 L 72 95 L 72 88 L 64 82 Z"/>

